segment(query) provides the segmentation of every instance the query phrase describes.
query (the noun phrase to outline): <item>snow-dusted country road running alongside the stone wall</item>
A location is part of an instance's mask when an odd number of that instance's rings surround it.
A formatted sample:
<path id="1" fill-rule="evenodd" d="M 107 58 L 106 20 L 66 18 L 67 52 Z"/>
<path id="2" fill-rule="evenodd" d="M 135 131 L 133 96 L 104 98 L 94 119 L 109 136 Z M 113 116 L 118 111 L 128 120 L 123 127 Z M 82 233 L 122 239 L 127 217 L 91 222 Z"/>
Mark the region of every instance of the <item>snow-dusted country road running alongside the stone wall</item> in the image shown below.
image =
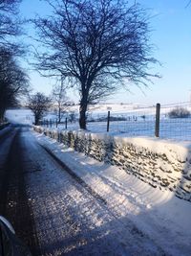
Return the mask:
<path id="1" fill-rule="evenodd" d="M 30 128 L 0 137 L 0 214 L 35 256 L 166 255 L 132 221 L 38 143 Z"/>

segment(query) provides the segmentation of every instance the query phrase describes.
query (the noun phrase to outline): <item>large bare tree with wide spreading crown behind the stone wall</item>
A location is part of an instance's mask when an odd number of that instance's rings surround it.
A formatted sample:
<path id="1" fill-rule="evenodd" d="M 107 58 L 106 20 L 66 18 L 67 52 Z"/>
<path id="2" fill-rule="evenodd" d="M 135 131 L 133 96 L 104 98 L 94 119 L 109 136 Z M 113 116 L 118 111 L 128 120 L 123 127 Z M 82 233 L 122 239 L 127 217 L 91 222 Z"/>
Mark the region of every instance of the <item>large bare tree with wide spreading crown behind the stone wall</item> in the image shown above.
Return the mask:
<path id="1" fill-rule="evenodd" d="M 53 16 L 36 18 L 40 41 L 37 68 L 63 75 L 80 96 L 79 125 L 86 128 L 87 106 L 128 82 L 146 85 L 152 75 L 146 12 L 122 0 L 46 0 Z"/>

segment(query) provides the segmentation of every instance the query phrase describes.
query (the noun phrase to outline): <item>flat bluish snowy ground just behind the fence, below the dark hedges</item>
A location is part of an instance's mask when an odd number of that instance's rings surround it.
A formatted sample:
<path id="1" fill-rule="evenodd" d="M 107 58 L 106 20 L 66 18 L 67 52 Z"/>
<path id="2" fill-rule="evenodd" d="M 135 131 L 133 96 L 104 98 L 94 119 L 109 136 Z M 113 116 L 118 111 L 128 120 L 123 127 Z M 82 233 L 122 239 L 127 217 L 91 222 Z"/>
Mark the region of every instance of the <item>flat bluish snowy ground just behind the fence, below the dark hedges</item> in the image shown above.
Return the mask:
<path id="1" fill-rule="evenodd" d="M 46 127 L 46 126 L 45 126 Z M 49 126 L 50 128 L 50 126 Z M 55 128 L 53 124 L 52 128 Z M 191 118 L 178 120 L 161 120 L 159 137 L 162 139 L 191 140 Z M 58 125 L 58 129 L 65 129 L 65 124 Z M 79 129 L 77 122 L 68 122 L 67 129 Z M 107 132 L 107 122 L 91 122 L 87 124 L 88 131 L 96 133 Z M 110 122 L 109 134 L 122 137 L 149 136 L 155 137 L 155 121 L 115 121 Z"/>

